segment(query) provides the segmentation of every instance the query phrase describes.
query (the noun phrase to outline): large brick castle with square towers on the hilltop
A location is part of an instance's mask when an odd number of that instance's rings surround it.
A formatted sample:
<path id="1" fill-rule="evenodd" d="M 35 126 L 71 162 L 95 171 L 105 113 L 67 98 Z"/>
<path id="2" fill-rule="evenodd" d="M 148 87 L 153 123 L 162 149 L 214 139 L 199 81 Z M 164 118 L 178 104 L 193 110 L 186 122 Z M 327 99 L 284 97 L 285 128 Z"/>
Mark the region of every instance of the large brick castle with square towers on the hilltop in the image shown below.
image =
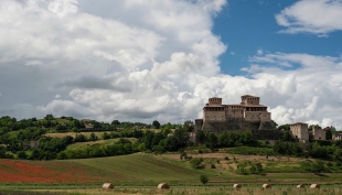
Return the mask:
<path id="1" fill-rule="evenodd" d="M 222 105 L 222 98 L 213 97 L 203 108 L 203 119 L 195 120 L 197 130 L 272 130 L 271 113 L 267 106 L 260 105 L 256 96 L 242 96 L 242 102 Z"/>

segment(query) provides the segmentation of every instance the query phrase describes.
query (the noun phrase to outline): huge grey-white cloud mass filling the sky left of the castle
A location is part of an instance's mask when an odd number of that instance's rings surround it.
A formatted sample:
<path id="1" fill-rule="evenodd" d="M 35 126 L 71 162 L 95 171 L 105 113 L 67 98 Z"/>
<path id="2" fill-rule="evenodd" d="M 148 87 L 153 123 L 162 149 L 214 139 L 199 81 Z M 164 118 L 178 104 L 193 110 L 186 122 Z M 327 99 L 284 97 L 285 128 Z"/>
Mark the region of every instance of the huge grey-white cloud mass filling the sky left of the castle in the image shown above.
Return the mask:
<path id="1" fill-rule="evenodd" d="M 0 0 L 0 34 L 7 35 L 0 39 L 0 66 L 8 69 L 0 82 L 23 77 L 17 69 L 25 65 L 28 79 L 42 85 L 3 88 L 18 97 L 40 94 L 34 104 L 19 100 L 36 117 L 192 119 L 193 106 L 182 111 L 175 97 L 220 73 L 217 57 L 226 46 L 211 29 L 225 0 L 106 3 L 111 6 L 101 9 L 120 8 L 117 15 L 95 14 L 82 0 Z M 192 99 L 184 96 L 182 102 L 194 105 Z M 14 99 L 2 102 L 2 110 L 23 107 Z"/>

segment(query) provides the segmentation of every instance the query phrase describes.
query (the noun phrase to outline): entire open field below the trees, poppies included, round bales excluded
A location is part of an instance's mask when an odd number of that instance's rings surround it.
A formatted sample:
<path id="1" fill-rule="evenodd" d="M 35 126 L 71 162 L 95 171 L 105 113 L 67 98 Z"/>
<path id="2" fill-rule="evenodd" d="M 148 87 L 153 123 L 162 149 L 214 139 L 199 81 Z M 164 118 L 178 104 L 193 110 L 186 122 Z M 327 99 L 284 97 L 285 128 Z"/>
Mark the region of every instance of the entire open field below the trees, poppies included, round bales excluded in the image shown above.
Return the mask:
<path id="1" fill-rule="evenodd" d="M 270 194 L 341 194 L 342 173 L 302 173 L 298 165 L 310 159 L 266 155 L 191 153 L 203 159 L 202 169 L 193 169 L 179 153 L 147 154 L 60 160 L 19 161 L 0 160 L 0 192 L 11 189 L 49 191 L 62 194 L 263 194 L 261 184 L 272 184 Z M 237 166 L 260 162 L 265 173 L 238 174 Z M 214 164 L 215 169 L 211 165 Z M 210 182 L 203 185 L 200 175 Z M 115 189 L 103 192 L 103 183 L 113 183 Z M 156 189 L 159 183 L 169 183 L 170 191 Z M 243 184 L 233 191 L 234 183 Z M 321 189 L 296 189 L 296 185 L 321 184 Z M 286 193 L 284 193 L 286 192 Z M 15 192 L 17 193 L 17 192 Z M 11 194 L 15 194 L 11 193 Z M 1 195 L 1 194 L 0 194 Z"/>

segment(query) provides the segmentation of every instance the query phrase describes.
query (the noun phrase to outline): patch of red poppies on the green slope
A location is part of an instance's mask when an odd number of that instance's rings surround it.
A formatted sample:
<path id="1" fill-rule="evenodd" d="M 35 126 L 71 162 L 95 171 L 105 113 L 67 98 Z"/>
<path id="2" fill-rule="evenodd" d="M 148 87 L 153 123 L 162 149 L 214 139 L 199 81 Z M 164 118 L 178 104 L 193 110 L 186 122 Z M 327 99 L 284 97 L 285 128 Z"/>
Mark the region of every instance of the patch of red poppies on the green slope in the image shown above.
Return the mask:
<path id="1" fill-rule="evenodd" d="M 96 183 L 107 176 L 100 170 L 70 161 L 0 160 L 2 183 Z"/>

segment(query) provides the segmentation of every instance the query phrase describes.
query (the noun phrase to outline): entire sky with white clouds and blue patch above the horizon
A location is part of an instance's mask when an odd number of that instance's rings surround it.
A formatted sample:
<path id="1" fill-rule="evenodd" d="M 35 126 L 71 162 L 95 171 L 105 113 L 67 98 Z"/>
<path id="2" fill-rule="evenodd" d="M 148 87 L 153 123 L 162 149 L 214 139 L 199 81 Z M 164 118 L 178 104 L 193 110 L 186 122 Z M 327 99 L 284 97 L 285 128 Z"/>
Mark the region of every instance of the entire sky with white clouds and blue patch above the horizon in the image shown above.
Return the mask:
<path id="1" fill-rule="evenodd" d="M 0 0 L 0 116 L 183 122 L 207 98 L 342 129 L 342 0 Z"/>

